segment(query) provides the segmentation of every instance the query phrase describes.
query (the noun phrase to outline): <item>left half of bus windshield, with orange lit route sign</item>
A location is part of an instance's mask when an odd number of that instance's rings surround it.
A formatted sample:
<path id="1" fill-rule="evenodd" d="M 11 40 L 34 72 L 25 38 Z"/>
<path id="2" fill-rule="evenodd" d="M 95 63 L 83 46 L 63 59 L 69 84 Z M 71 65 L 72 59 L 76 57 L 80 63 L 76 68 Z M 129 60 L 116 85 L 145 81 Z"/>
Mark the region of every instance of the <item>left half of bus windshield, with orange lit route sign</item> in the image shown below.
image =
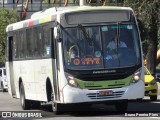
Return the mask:
<path id="1" fill-rule="evenodd" d="M 99 68 L 103 65 L 99 27 L 66 28 L 63 34 L 68 66 Z"/>

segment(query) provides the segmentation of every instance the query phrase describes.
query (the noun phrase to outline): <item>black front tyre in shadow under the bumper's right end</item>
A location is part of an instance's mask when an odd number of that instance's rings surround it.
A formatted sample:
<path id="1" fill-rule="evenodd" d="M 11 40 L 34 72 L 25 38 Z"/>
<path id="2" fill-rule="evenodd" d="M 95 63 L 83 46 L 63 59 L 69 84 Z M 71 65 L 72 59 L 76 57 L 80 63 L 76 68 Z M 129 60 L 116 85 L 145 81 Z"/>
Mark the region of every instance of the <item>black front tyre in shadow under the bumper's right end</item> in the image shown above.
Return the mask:
<path id="1" fill-rule="evenodd" d="M 127 101 L 117 102 L 115 104 L 115 107 L 117 111 L 125 112 L 127 111 L 127 108 L 128 108 L 128 102 Z"/>

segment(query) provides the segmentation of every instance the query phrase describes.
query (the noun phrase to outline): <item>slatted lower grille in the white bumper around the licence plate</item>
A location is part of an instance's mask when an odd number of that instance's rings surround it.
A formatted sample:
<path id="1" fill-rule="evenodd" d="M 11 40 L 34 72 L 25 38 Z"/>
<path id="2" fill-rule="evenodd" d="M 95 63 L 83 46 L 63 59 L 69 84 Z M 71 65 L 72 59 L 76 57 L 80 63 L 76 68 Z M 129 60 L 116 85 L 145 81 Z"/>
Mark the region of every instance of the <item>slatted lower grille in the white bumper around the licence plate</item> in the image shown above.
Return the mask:
<path id="1" fill-rule="evenodd" d="M 119 98 L 124 94 L 124 91 L 113 92 L 112 95 L 101 96 L 99 93 L 88 93 L 87 96 L 90 99 L 109 99 L 109 98 Z"/>

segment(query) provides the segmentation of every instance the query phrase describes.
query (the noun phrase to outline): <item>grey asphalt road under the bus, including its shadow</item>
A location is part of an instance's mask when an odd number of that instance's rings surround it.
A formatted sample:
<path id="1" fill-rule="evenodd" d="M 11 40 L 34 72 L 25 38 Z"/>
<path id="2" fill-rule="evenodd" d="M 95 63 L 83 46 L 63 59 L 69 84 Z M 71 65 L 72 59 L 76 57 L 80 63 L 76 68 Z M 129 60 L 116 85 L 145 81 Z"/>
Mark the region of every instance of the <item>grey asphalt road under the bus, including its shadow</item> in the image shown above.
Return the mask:
<path id="1" fill-rule="evenodd" d="M 40 110 L 28 110 L 23 111 L 20 106 L 20 100 L 12 98 L 8 92 L 0 91 L 0 120 L 2 119 L 2 112 L 12 111 L 17 113 L 40 113 L 42 117 L 38 117 L 37 119 L 45 119 L 51 120 L 65 120 L 67 119 L 76 119 L 76 120 L 122 120 L 122 119 L 143 119 L 143 120 L 160 120 L 160 94 L 158 96 L 158 100 L 155 102 L 151 102 L 149 97 L 145 97 L 144 100 L 140 102 L 131 101 L 128 106 L 128 111 L 126 113 L 117 113 L 115 111 L 114 106 L 109 105 L 93 105 L 91 107 L 87 107 L 85 109 L 80 109 L 76 112 L 68 112 L 62 115 L 55 115 L 51 110 L 51 104 L 42 104 Z M 142 117 L 134 117 L 134 116 L 142 116 Z M 145 117 L 146 115 L 151 115 L 150 117 Z M 157 116 L 159 115 L 159 116 Z M 132 117 L 129 117 L 132 116 Z M 4 118 L 3 118 L 4 119 Z M 17 118 L 12 118 L 17 120 Z M 12 120 L 9 119 L 9 120 Z M 18 118 L 22 120 L 22 118 Z M 24 118 L 23 118 L 24 119 Z M 26 118 L 30 119 L 30 118 Z M 35 118 L 34 118 L 35 119 Z M 6 120 L 6 119 L 5 119 Z"/>

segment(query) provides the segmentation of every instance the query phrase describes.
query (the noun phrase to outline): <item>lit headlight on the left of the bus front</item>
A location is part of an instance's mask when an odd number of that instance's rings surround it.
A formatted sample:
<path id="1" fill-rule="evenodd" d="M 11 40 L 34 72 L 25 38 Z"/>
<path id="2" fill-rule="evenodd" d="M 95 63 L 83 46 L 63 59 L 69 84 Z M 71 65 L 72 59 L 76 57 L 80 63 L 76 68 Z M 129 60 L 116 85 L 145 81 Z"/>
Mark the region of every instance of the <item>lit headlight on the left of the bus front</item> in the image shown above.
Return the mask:
<path id="1" fill-rule="evenodd" d="M 70 85 L 72 87 L 76 87 L 76 88 L 78 87 L 78 84 L 77 84 L 75 78 L 72 75 L 70 75 L 68 73 L 65 73 L 65 76 L 68 80 L 68 85 Z"/>

